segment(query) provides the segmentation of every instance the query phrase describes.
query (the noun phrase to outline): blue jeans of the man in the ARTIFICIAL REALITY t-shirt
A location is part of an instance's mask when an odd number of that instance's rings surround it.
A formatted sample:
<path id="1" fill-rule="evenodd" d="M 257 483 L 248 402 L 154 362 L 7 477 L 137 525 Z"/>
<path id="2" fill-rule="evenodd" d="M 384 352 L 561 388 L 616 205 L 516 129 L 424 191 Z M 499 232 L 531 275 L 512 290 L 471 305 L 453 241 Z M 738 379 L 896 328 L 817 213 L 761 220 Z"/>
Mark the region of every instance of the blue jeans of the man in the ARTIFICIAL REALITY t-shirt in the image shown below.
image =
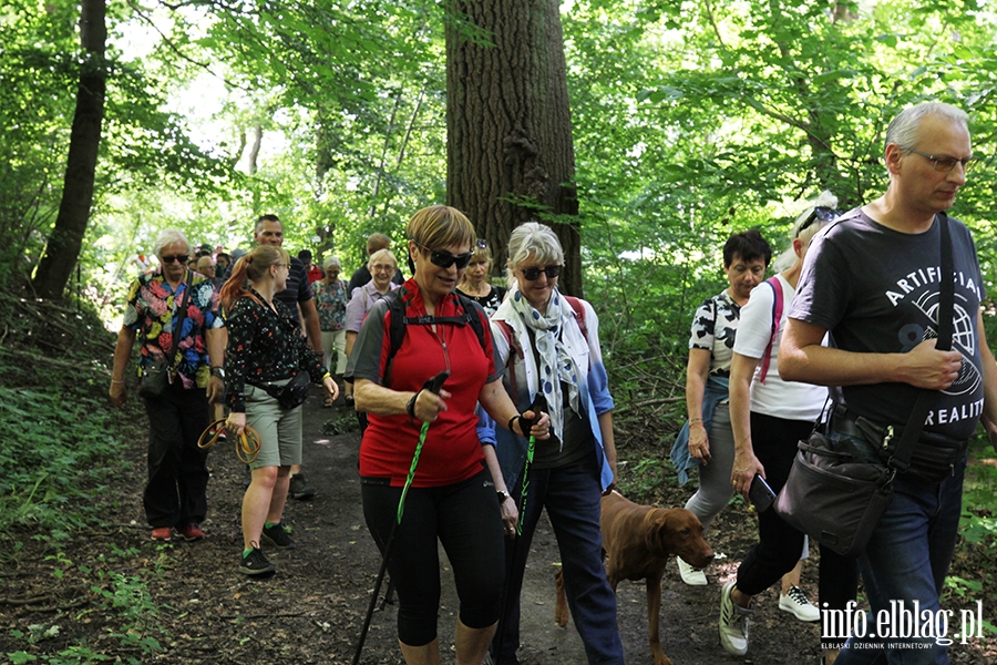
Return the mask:
<path id="1" fill-rule="evenodd" d="M 841 440 L 845 437 L 833 432 L 831 438 Z M 849 439 L 860 451 L 870 457 L 875 454 L 865 441 L 852 437 Z M 871 606 L 865 622 L 866 636 L 850 637 L 835 661 L 836 665 L 948 664 L 948 648 L 937 644 L 934 637 L 898 635 L 894 640 L 881 638 L 877 634 L 877 617 L 890 616 L 891 608 L 913 612 L 915 602 L 918 603 L 918 614 L 927 611 L 937 617 L 942 610 L 942 585 L 955 551 L 965 471 L 964 454 L 953 474 L 941 483 L 926 483 L 904 474 L 896 477 L 893 503 L 886 509 L 865 552 L 859 557 L 859 570 Z M 917 617 L 917 623 L 923 624 L 924 620 Z M 886 625 L 898 628 L 893 621 Z M 949 617 L 948 634 L 943 637 L 952 638 L 953 633 L 958 630 Z M 870 636 L 870 633 L 876 637 Z M 937 621 L 934 633 L 937 636 Z"/>

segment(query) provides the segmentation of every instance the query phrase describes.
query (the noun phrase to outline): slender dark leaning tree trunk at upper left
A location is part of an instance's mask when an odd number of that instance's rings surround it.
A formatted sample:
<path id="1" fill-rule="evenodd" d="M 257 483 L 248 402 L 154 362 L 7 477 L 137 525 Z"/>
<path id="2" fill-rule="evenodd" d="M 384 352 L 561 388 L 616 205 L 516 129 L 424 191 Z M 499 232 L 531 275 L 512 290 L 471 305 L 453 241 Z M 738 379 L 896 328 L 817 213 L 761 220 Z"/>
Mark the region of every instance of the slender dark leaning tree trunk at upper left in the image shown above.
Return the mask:
<path id="1" fill-rule="evenodd" d="M 82 0 L 81 3 L 80 42 L 83 45 L 83 63 L 80 68 L 80 86 L 76 90 L 76 111 L 70 134 L 62 202 L 33 282 L 35 293 L 42 298 L 62 298 L 80 258 L 83 234 L 86 232 L 93 204 L 101 124 L 104 120 L 104 94 L 107 89 L 104 2 L 105 0 Z"/>

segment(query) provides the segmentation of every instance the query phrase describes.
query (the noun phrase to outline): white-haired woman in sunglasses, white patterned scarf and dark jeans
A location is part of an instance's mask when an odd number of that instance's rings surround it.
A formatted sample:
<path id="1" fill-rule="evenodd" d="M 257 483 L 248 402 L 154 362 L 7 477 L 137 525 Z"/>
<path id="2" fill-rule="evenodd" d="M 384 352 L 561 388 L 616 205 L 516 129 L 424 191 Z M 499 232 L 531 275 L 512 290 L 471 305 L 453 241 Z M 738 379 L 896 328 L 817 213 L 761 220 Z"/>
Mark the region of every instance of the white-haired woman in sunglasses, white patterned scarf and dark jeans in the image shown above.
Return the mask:
<path id="1" fill-rule="evenodd" d="M 616 595 L 606 580 L 599 531 L 599 500 L 616 482 L 613 397 L 599 350 L 599 319 L 592 305 L 557 289 L 564 250 L 548 226 L 528 222 L 515 228 L 506 265 L 508 295 L 492 316 L 496 360 L 508 365 L 503 381 L 520 410 L 537 395 L 546 399 L 542 410 L 551 415 L 551 438 L 536 441 L 527 467 L 527 440 L 495 431 L 502 474 L 512 498 L 522 497 L 523 516 L 505 542 L 505 600 L 492 662 L 517 662 L 520 593 L 533 533 L 546 508 L 561 550 L 568 607 L 588 662 L 621 664 Z M 503 504 L 510 502 L 506 495 Z"/>

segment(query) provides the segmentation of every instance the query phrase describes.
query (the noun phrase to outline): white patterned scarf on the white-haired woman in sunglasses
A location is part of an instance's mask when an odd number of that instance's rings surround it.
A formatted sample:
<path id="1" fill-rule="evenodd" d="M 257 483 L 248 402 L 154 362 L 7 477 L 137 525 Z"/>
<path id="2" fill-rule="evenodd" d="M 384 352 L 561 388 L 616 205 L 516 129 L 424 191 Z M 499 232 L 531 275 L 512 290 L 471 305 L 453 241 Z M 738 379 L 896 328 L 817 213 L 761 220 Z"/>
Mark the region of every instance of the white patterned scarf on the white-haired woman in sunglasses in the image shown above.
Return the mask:
<path id="1" fill-rule="evenodd" d="M 506 321 L 513 329 L 516 342 L 523 349 L 530 399 L 532 401 L 538 391 L 543 392 L 549 409 L 551 428 L 563 446 L 563 385 L 567 386 L 572 410 L 580 416 L 578 386 L 588 377 L 588 344 L 575 321 L 574 309 L 555 288 L 547 303 L 547 313 L 541 314 L 518 287 L 513 286 L 493 318 Z M 527 330 L 534 334 L 539 367 Z M 584 362 L 579 364 L 582 359 Z"/>

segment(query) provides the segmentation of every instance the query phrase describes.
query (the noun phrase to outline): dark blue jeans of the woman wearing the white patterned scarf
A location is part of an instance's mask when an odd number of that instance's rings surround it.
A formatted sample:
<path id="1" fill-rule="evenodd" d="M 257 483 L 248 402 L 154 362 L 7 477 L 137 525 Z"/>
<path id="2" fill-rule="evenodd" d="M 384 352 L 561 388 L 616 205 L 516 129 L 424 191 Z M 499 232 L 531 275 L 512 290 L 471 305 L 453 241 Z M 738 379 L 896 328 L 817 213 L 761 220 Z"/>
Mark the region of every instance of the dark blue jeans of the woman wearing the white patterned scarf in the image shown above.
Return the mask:
<path id="1" fill-rule="evenodd" d="M 516 501 L 523 491 L 521 483 L 522 478 L 512 493 Z M 588 663 L 623 665 L 623 643 L 616 630 L 616 594 L 603 566 L 602 495 L 595 452 L 564 467 L 530 470 L 523 534 L 505 541 L 505 597 L 498 632 L 492 641 L 497 663 L 515 663 L 526 557 L 536 523 L 546 508 L 561 551 L 568 608 Z"/>

